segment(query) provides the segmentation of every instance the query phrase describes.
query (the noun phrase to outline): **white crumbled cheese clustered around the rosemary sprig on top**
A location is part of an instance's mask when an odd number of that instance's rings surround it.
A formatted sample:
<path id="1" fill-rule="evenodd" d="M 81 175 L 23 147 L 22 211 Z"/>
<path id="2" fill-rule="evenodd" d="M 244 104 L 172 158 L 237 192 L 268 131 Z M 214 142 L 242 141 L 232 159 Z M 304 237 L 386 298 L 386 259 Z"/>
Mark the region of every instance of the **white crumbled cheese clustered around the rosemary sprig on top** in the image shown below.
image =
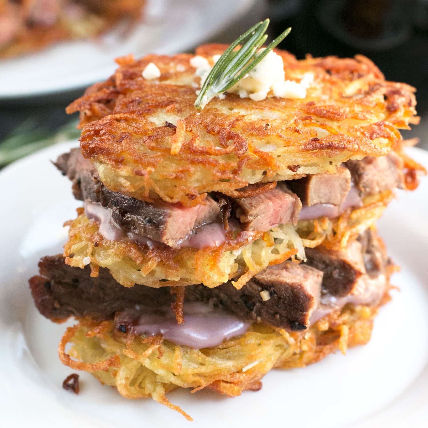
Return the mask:
<path id="1" fill-rule="evenodd" d="M 261 53 L 264 48 L 259 50 Z M 214 55 L 213 61 L 217 62 L 220 55 Z M 200 86 L 211 71 L 211 66 L 203 56 L 194 56 L 190 59 L 190 65 L 196 68 L 195 76 L 201 78 Z M 281 97 L 292 99 L 306 98 L 306 89 L 312 85 L 314 75 L 305 73 L 300 82 L 285 80 L 284 64 L 281 56 L 270 51 L 246 76 L 227 92 L 238 94 L 241 98 L 251 98 L 261 101 L 268 97 Z M 219 98 L 224 98 L 220 97 Z"/>

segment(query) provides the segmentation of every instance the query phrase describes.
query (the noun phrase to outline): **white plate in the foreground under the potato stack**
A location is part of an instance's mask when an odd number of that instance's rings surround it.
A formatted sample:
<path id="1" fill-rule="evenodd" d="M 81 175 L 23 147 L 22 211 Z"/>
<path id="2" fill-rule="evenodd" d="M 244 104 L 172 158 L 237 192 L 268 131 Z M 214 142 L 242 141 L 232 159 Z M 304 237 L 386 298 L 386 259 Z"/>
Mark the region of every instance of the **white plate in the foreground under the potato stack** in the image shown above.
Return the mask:
<path id="1" fill-rule="evenodd" d="M 126 400 L 81 373 L 79 395 L 62 389 L 72 371 L 56 348 L 65 325 L 35 309 L 27 279 L 40 256 L 60 251 L 80 202 L 49 160 L 77 143 L 63 143 L 0 172 L 0 423 L 14 427 L 169 426 L 248 428 L 426 427 L 428 422 L 428 178 L 416 192 L 400 192 L 380 221 L 380 234 L 402 270 L 401 291 L 380 309 L 371 342 L 305 369 L 273 370 L 259 392 L 233 399 L 215 392 L 169 394 L 195 419 L 147 400 Z M 410 149 L 428 166 L 428 153 Z"/>

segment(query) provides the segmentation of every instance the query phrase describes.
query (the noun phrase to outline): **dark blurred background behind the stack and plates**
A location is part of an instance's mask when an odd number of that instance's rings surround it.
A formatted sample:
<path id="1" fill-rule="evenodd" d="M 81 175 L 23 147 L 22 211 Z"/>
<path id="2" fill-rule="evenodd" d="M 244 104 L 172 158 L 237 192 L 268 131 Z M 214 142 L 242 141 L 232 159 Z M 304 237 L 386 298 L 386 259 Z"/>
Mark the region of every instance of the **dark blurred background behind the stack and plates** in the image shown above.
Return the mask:
<path id="1" fill-rule="evenodd" d="M 371 58 L 388 80 L 404 81 L 418 89 L 417 110 L 421 125 L 403 131 L 405 138 L 420 137 L 428 149 L 428 1 L 427 0 L 269 0 L 265 6 L 271 37 L 292 27 L 280 48 L 298 58 L 313 56 L 354 56 Z M 255 19 L 249 14 L 250 27 Z M 212 41 L 225 41 L 219 34 Z M 230 40 L 232 41 L 232 40 Z M 0 141 L 24 120 L 33 118 L 49 131 L 70 121 L 64 108 L 79 92 L 52 99 L 2 102 Z M 424 121 L 424 118 L 427 120 Z M 426 124 L 425 124 L 426 122 Z"/>

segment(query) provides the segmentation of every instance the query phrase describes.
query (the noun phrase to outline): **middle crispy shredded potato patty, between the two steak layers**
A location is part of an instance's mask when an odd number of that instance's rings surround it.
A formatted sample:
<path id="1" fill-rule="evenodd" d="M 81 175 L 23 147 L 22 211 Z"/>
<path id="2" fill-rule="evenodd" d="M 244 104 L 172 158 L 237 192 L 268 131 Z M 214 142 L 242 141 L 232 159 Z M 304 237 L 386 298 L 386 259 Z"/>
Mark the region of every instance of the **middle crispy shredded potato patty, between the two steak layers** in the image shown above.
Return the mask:
<path id="1" fill-rule="evenodd" d="M 98 275 L 99 266 L 108 268 L 125 287 L 202 283 L 212 288 L 235 278 L 235 287 L 241 288 L 269 265 L 295 254 L 304 259 L 304 247 L 346 247 L 348 241 L 374 225 L 391 199 L 392 192 L 388 191 L 366 198 L 363 207 L 348 209 L 335 220 L 324 217 L 300 221 L 297 227 L 280 225 L 268 232 L 256 232 L 251 238 L 226 240 L 219 247 L 201 250 L 166 246 L 150 249 L 131 241 L 109 241 L 98 232 L 98 223 L 79 208 L 77 219 L 67 222 L 70 230 L 64 247 L 65 263 L 79 268 L 90 264 L 92 276 Z"/>

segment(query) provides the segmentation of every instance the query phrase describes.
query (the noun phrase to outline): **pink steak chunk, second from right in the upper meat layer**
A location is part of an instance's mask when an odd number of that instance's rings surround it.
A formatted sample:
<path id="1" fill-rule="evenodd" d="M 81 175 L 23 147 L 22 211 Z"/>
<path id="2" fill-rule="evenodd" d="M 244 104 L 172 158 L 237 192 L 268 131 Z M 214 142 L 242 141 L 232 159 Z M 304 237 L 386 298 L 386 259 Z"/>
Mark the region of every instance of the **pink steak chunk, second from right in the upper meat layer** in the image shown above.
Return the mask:
<path id="1" fill-rule="evenodd" d="M 297 194 L 303 205 L 342 205 L 351 189 L 349 169 L 339 166 L 336 173 L 309 174 L 298 180 L 287 181 L 287 186 Z"/>

